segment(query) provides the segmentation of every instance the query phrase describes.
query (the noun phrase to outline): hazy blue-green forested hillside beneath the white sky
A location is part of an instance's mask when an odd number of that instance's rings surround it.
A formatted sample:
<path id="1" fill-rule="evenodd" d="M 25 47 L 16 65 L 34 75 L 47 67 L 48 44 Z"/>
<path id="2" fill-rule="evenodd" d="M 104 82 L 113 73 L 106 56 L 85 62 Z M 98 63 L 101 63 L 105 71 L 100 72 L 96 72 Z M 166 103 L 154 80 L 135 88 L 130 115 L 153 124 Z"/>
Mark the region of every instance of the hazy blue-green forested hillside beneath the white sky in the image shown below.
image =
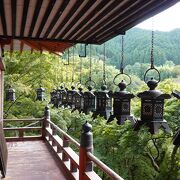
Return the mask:
<path id="1" fill-rule="evenodd" d="M 170 32 L 155 31 L 154 33 L 154 57 L 155 64 L 162 65 L 165 61 L 173 61 L 180 64 L 180 29 Z M 108 63 L 119 66 L 121 52 L 120 37 L 108 41 L 106 56 Z M 136 62 L 148 63 L 150 59 L 151 31 L 133 28 L 124 36 L 124 56 L 126 65 Z M 103 55 L 103 46 L 93 46 L 93 54 L 98 57 Z"/>

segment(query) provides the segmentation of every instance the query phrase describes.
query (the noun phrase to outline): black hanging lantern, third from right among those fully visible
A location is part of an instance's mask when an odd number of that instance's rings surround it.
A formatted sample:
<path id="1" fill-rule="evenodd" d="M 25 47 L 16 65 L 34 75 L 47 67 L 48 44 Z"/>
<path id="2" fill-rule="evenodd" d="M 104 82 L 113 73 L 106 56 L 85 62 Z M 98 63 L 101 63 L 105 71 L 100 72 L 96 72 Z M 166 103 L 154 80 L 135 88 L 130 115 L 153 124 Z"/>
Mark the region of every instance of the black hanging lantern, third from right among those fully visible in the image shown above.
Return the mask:
<path id="1" fill-rule="evenodd" d="M 112 97 L 109 96 L 109 92 L 106 90 L 107 86 L 103 85 L 101 87 L 102 91 L 95 92 L 96 96 L 96 111 L 93 113 L 93 118 L 98 115 L 109 119 L 110 113 L 112 112 Z"/>

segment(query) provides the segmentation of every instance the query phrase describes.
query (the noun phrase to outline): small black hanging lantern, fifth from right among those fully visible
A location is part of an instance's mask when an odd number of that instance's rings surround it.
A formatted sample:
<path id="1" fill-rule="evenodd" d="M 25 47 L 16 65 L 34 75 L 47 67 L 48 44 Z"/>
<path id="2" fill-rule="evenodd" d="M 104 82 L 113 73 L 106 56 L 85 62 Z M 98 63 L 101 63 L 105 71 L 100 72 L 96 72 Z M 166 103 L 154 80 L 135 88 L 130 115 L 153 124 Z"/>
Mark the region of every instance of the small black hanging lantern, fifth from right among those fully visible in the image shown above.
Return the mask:
<path id="1" fill-rule="evenodd" d="M 82 92 L 82 88 L 78 88 L 79 91 L 76 91 L 73 95 L 73 102 L 74 102 L 74 109 L 78 110 L 79 112 L 82 112 L 83 107 L 84 107 L 84 93 Z"/>

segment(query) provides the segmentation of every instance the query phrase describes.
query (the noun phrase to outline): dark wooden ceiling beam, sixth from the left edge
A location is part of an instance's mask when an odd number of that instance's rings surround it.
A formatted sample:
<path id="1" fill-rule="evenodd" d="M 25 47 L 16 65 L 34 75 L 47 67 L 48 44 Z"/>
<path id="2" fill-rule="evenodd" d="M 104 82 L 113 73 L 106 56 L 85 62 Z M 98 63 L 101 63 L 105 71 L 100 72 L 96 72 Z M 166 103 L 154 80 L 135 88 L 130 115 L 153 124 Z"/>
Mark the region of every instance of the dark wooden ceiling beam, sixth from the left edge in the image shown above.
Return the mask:
<path id="1" fill-rule="evenodd" d="M 62 4 L 59 6 L 55 16 L 53 17 L 53 20 L 51 21 L 51 24 L 49 25 L 49 27 L 47 28 L 44 37 L 43 38 L 47 38 L 49 33 L 51 32 L 51 30 L 53 29 L 54 25 L 57 23 L 58 19 L 61 17 L 63 11 L 65 10 L 65 8 L 67 7 L 68 3 L 70 0 L 65 0 L 62 2 Z"/>

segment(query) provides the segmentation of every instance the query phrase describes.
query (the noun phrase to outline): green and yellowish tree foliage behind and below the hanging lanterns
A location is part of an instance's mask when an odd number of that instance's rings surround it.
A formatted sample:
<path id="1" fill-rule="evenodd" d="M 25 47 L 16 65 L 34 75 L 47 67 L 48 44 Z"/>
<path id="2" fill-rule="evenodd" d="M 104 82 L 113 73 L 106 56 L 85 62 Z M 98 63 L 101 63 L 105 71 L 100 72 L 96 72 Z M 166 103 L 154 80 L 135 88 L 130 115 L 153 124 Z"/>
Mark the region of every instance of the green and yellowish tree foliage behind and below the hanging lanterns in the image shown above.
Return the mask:
<path id="1" fill-rule="evenodd" d="M 110 56 L 111 51 L 108 54 Z M 49 103 L 50 91 L 59 87 L 63 82 L 70 87 L 73 72 L 71 58 L 70 65 L 64 66 L 65 59 L 49 54 L 24 52 L 20 55 L 16 52 L 12 57 L 6 54 L 5 89 L 8 85 L 12 85 L 16 89 L 17 100 L 13 105 L 10 102 L 5 102 L 4 117 L 41 117 L 44 106 Z M 102 64 L 102 60 L 93 58 L 92 78 L 96 82 L 96 89 L 99 89 L 102 85 Z M 84 84 L 89 76 L 88 58 L 83 58 L 82 66 L 82 84 Z M 137 94 L 137 92 L 147 90 L 145 83 L 140 80 L 140 74 L 137 74 L 141 73 L 140 69 L 143 69 L 144 72 L 147 67 L 147 64 L 141 66 L 138 63 L 132 65 L 132 67 L 126 66 L 125 70 L 134 74 L 132 75 L 132 84 L 128 87 L 129 91 Z M 74 79 L 77 83 L 80 68 L 78 56 L 75 57 L 74 68 Z M 173 82 L 171 79 L 166 79 L 171 77 L 167 75 L 168 73 L 171 75 L 174 73 L 172 69 L 176 69 L 172 62 L 166 62 L 159 66 L 162 74 L 164 72 L 166 75 L 163 78 L 165 80 L 159 84 L 158 88 L 166 93 L 171 93 L 173 89 L 180 90 L 180 84 Z M 108 88 L 113 91 L 117 90 L 112 82 L 119 71 L 111 65 L 108 65 L 106 70 Z M 176 70 L 178 72 L 178 69 Z M 117 80 L 119 81 L 120 78 Z M 179 79 L 177 80 L 179 81 Z M 35 90 L 40 84 L 46 89 L 45 102 L 35 101 Z M 132 111 L 139 118 L 140 100 L 138 98 L 134 98 L 132 101 Z M 91 114 L 79 114 L 78 111 L 72 113 L 69 109 L 51 107 L 52 121 L 77 140 L 80 138 L 82 124 L 89 121 L 93 125 L 95 155 L 128 180 L 176 180 L 180 178 L 178 174 L 180 154 L 172 144 L 173 134 L 180 127 L 179 117 L 180 101 L 175 98 L 166 101 L 165 119 L 172 129 L 172 133 L 166 135 L 160 131 L 156 135 L 151 135 L 145 127 L 138 132 L 133 131 L 132 125 L 128 121 L 122 126 L 118 126 L 115 121 L 106 124 L 106 120 L 101 117 L 93 120 Z M 99 170 L 97 171 L 103 179 L 108 179 L 105 174 Z"/>

